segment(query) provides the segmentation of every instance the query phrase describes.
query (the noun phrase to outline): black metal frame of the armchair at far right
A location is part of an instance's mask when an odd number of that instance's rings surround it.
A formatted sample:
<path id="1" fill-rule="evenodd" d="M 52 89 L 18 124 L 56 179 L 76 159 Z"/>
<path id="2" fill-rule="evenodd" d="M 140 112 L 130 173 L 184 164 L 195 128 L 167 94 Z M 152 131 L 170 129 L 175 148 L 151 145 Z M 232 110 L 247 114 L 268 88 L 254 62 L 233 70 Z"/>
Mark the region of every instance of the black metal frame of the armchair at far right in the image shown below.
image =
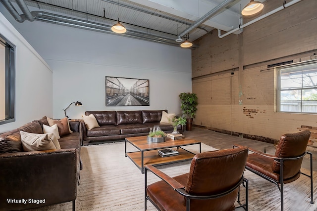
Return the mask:
<path id="1" fill-rule="evenodd" d="M 233 147 L 239 147 L 237 145 L 234 145 Z M 252 149 L 249 149 L 249 151 L 253 152 L 253 153 L 256 153 L 258 155 L 261 155 L 261 156 L 264 156 L 266 158 L 273 158 L 274 160 L 278 160 L 280 162 L 280 176 L 279 176 L 279 181 L 275 180 L 275 179 L 272 179 L 271 177 L 269 176 L 266 176 L 264 175 L 263 173 L 255 170 L 255 169 L 252 169 L 248 166 L 246 166 L 245 168 L 250 170 L 251 172 L 261 176 L 262 178 L 266 179 L 267 181 L 275 184 L 277 187 L 278 187 L 278 190 L 280 191 L 280 194 L 281 194 L 281 211 L 284 210 L 284 178 L 283 178 L 283 163 L 284 161 L 292 161 L 292 160 L 299 160 L 299 159 L 302 159 L 304 158 L 304 156 L 306 154 L 309 154 L 310 155 L 310 175 L 306 174 L 306 173 L 303 173 L 303 172 L 300 172 L 301 174 L 305 175 L 305 176 L 308 176 L 310 177 L 310 180 L 311 180 L 311 201 L 310 203 L 311 204 L 314 204 L 315 202 L 313 201 L 313 154 L 311 152 L 305 152 L 303 155 L 301 156 L 298 156 L 298 157 L 294 157 L 294 158 L 278 158 L 278 157 L 274 157 L 274 156 L 268 156 L 268 155 L 264 155 L 264 154 L 260 154 L 260 153 L 257 153 L 255 151 L 253 151 Z"/>

